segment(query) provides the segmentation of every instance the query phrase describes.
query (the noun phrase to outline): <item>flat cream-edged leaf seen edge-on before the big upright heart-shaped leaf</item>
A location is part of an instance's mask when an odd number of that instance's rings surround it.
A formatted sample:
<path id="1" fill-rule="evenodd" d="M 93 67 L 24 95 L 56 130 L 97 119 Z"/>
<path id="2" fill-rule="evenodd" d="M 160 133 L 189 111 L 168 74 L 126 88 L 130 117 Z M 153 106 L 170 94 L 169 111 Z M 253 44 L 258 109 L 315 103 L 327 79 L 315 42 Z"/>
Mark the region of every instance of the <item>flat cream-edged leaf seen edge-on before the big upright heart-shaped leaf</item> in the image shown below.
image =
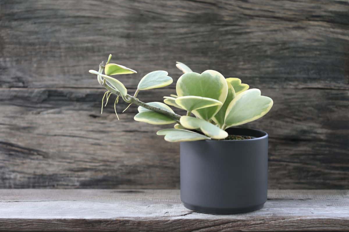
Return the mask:
<path id="1" fill-rule="evenodd" d="M 176 102 L 177 105 L 189 112 L 210 106 L 222 105 L 222 102 L 216 99 L 199 96 L 178 97 L 174 102 Z"/>

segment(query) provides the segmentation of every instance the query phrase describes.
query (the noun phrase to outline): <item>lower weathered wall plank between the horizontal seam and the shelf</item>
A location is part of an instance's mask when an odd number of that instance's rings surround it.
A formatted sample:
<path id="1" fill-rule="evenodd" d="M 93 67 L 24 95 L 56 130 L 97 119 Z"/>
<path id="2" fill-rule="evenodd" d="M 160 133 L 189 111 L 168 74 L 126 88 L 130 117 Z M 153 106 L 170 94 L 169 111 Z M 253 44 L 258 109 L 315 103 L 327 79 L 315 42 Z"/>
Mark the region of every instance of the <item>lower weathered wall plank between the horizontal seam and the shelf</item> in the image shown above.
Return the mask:
<path id="1" fill-rule="evenodd" d="M 169 93 L 139 98 L 161 101 Z M 347 188 L 348 92 L 262 93 L 274 107 L 247 126 L 269 133 L 269 187 Z M 102 89 L 1 89 L 0 187 L 178 188 L 179 144 L 156 135 L 171 126 L 134 121 L 135 106 L 118 121 L 113 100 L 101 115 L 102 96 Z M 125 107 L 119 103 L 118 112 Z"/>

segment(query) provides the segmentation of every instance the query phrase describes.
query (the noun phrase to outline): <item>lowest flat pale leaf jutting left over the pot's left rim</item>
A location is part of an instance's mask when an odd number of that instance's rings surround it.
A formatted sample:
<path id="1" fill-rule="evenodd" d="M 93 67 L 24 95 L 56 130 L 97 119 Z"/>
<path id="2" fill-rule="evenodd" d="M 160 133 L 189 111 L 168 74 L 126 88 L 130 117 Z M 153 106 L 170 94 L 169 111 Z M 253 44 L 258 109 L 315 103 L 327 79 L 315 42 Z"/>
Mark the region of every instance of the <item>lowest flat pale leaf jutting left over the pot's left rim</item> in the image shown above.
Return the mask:
<path id="1" fill-rule="evenodd" d="M 205 135 L 183 129 L 163 129 L 156 132 L 156 134 L 164 135 L 165 140 L 172 143 L 211 139 L 210 137 L 207 137 Z"/>

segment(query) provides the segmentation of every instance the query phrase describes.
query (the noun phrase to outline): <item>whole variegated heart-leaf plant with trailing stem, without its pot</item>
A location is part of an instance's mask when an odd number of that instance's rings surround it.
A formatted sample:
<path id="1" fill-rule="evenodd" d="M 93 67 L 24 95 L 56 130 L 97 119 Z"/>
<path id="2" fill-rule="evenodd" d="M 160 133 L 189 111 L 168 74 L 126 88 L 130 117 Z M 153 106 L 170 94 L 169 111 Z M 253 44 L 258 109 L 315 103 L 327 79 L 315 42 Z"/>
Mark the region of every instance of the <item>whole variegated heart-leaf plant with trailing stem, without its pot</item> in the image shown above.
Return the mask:
<path id="1" fill-rule="evenodd" d="M 102 99 L 102 111 L 104 99 L 106 98 L 107 103 L 110 95 L 114 94 L 114 110 L 118 115 L 115 105 L 121 97 L 129 103 L 127 108 L 132 104 L 138 105 L 139 113 L 134 116 L 136 121 L 153 125 L 175 123 L 174 128 L 157 131 L 157 135 L 164 135 L 168 142 L 225 139 L 228 137 L 225 129 L 261 118 L 273 106 L 270 97 L 261 96 L 259 89 L 248 89 L 249 86 L 241 83 L 238 78 L 226 79 L 214 70 L 196 73 L 180 62 L 177 62 L 176 66 L 184 74 L 177 81 L 177 94 L 165 96 L 165 104 L 144 103 L 137 98 L 139 92 L 170 85 L 173 80 L 168 76 L 168 72 L 159 70 L 146 74 L 132 96 L 119 80 L 110 75 L 137 72 L 119 64 L 109 63 L 110 59 L 111 55 L 105 65 L 103 62 L 99 65 L 98 71 L 89 71 L 97 75 L 99 84 L 107 90 Z M 176 114 L 169 105 L 185 110 L 186 115 Z"/>

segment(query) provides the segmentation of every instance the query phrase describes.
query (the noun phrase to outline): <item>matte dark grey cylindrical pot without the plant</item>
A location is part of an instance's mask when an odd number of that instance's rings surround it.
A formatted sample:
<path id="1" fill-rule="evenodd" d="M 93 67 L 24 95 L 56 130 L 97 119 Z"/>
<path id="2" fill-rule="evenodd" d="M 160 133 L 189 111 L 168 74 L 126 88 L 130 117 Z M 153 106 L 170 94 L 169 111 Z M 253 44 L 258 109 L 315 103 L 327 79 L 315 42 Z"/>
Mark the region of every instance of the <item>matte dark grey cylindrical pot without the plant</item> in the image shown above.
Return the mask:
<path id="1" fill-rule="evenodd" d="M 180 198 L 184 206 L 208 214 L 261 209 L 267 201 L 268 134 L 229 128 L 245 140 L 180 143 Z"/>

